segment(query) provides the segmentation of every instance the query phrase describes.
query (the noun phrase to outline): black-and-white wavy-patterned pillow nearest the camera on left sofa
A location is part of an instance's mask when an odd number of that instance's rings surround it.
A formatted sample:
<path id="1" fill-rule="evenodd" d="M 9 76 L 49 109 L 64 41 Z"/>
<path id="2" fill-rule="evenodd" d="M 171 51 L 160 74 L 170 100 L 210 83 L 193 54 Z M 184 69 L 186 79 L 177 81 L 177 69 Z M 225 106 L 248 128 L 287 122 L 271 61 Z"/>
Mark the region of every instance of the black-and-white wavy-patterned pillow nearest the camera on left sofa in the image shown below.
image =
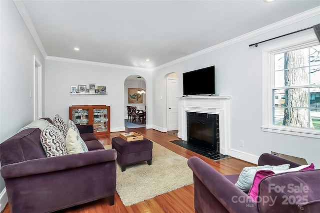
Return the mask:
<path id="1" fill-rule="evenodd" d="M 41 131 L 40 142 L 47 157 L 67 154 L 64 138 L 60 131 L 52 124 L 49 124 Z"/>

